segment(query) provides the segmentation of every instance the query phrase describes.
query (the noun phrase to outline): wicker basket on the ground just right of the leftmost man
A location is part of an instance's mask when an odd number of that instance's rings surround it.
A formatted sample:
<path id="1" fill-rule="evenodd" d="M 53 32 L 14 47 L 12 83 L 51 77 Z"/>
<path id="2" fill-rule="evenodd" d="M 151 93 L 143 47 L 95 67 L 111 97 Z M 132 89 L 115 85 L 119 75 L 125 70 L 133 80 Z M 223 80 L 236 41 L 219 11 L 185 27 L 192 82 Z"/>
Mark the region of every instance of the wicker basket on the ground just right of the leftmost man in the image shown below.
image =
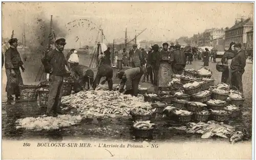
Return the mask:
<path id="1" fill-rule="evenodd" d="M 19 85 L 20 99 L 23 101 L 36 101 L 38 85 Z"/>

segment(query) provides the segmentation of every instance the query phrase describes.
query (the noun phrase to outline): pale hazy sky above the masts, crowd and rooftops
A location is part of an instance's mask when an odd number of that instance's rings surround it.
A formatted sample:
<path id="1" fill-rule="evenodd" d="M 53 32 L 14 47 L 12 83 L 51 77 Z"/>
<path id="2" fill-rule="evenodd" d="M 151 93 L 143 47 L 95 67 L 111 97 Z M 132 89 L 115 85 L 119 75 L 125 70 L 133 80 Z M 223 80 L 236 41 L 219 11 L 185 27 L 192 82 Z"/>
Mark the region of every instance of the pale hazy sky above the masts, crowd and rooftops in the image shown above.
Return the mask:
<path id="1" fill-rule="evenodd" d="M 15 37 L 21 39 L 25 26 L 26 38 L 33 43 L 39 28 L 37 19 L 49 23 L 50 15 L 58 28 L 57 38 L 65 37 L 68 48 L 77 48 L 80 43 L 94 44 L 99 26 L 104 42 L 124 38 L 125 28 L 131 38 L 147 28 L 138 39 L 165 41 L 191 37 L 209 28 L 232 27 L 239 15 L 253 17 L 253 3 L 8 2 L 2 4 L 2 36 L 10 37 L 14 30 Z M 74 22 L 68 24 L 70 21 Z M 84 27 L 79 26 L 81 22 Z"/>

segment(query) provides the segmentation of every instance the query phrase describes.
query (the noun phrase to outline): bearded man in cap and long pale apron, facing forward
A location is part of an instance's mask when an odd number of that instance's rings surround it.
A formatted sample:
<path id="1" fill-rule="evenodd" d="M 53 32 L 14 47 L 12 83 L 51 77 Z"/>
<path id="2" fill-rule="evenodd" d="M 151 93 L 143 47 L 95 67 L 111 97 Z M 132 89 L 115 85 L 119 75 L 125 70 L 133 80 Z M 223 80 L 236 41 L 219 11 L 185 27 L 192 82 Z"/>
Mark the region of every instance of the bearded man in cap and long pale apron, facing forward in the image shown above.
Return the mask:
<path id="1" fill-rule="evenodd" d="M 168 43 L 163 43 L 163 50 L 159 53 L 160 66 L 158 71 L 158 90 L 164 91 L 167 84 L 172 81 L 173 69 L 172 63 L 174 60 L 173 52 L 168 51 Z"/>

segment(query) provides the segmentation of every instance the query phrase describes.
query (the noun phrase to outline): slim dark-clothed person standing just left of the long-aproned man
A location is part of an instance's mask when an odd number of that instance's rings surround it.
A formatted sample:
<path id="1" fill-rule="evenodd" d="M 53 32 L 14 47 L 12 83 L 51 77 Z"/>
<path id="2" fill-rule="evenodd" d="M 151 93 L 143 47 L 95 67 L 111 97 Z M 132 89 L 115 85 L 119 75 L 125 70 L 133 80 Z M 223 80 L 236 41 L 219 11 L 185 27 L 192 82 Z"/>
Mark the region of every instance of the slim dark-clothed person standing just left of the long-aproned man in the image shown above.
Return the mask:
<path id="1" fill-rule="evenodd" d="M 152 52 L 152 69 L 154 73 L 154 85 L 157 86 L 157 76 L 158 76 L 158 70 L 160 65 L 160 58 L 159 58 L 159 46 L 158 44 L 153 45 L 153 52 Z"/>

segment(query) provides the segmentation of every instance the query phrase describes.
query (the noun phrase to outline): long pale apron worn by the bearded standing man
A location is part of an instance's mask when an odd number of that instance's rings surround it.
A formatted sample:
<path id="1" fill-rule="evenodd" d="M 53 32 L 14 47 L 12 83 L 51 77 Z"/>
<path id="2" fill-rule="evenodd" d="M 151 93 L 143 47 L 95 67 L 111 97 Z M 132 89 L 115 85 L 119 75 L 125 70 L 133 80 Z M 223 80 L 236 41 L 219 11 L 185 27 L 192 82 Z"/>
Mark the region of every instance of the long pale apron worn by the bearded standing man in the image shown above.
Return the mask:
<path id="1" fill-rule="evenodd" d="M 172 81 L 173 68 L 168 62 L 162 62 L 158 71 L 158 87 L 166 87 L 167 84 Z"/>

